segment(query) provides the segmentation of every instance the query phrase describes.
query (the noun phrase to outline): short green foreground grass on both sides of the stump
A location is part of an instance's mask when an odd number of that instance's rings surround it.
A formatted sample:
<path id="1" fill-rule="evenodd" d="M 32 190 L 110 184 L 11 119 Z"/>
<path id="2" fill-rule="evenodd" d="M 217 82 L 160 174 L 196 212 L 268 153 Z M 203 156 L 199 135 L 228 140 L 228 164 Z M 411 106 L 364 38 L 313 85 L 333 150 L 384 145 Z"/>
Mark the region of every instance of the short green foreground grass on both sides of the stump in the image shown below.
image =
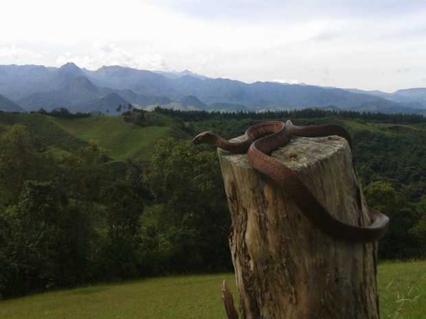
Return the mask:
<path id="1" fill-rule="evenodd" d="M 233 274 L 175 276 L 0 302 L 2 319 L 225 319 L 220 285 Z M 379 265 L 382 319 L 426 318 L 426 261 Z"/>

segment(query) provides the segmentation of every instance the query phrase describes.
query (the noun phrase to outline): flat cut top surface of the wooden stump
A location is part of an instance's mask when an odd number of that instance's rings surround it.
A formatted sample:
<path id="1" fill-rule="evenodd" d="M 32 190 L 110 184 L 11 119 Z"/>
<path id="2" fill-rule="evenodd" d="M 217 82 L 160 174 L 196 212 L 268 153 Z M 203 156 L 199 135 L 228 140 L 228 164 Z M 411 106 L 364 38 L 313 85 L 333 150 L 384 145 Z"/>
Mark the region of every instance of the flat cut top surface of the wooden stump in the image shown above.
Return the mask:
<path id="1" fill-rule="evenodd" d="M 244 139 L 245 137 L 242 135 L 230 141 L 239 142 L 244 141 Z M 298 171 L 339 152 L 344 152 L 346 147 L 349 147 L 348 142 L 336 135 L 330 137 L 292 137 L 289 143 L 278 148 L 271 155 L 290 169 Z M 247 161 L 247 154 L 232 154 L 220 148 L 218 154 L 234 165 L 247 169 L 251 168 Z"/>

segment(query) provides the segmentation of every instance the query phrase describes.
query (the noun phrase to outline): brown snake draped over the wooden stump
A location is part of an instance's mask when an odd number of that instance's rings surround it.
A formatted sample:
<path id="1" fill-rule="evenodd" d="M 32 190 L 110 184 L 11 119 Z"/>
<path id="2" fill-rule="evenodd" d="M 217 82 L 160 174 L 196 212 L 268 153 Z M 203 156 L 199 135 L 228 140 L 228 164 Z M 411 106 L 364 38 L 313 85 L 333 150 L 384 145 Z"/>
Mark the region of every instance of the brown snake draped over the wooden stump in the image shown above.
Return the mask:
<path id="1" fill-rule="evenodd" d="M 258 123 L 245 131 L 245 141 L 229 142 L 212 131 L 202 132 L 193 142 L 212 143 L 232 153 L 245 153 L 249 164 L 258 172 L 276 182 L 290 194 L 300 211 L 324 233 L 344 241 L 377 241 L 388 230 L 389 217 L 375 209 L 369 209 L 372 220 L 369 226 L 354 226 L 337 220 L 318 202 L 302 180 L 289 167 L 269 156 L 291 137 L 325 137 L 337 135 L 348 141 L 352 150 L 352 139 L 343 127 L 333 124 L 318 126 L 294 126 L 291 121 L 269 121 Z"/>

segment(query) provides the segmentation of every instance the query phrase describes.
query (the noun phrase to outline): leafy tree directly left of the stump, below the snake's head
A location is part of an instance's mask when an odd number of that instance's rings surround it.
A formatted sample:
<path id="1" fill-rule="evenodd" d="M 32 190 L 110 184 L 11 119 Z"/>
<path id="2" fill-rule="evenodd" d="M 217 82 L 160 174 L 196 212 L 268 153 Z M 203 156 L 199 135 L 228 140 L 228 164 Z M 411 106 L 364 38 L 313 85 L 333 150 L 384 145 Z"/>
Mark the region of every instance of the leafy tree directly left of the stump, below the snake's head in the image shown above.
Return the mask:
<path id="1" fill-rule="evenodd" d="M 173 267 L 230 267 L 230 218 L 216 152 L 190 141 L 161 141 L 153 151 L 146 180 L 155 202 L 161 203 L 158 231 L 172 242 Z"/>

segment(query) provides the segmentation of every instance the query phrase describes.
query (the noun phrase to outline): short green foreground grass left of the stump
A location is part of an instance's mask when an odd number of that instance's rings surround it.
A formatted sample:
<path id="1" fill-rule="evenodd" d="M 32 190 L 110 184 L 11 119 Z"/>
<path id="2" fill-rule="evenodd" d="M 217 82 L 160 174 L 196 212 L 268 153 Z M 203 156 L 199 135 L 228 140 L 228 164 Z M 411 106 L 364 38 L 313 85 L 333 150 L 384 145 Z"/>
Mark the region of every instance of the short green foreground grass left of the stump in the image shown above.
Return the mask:
<path id="1" fill-rule="evenodd" d="M 225 318 L 221 281 L 234 275 L 176 276 L 97 285 L 0 302 L 2 319 Z"/>

